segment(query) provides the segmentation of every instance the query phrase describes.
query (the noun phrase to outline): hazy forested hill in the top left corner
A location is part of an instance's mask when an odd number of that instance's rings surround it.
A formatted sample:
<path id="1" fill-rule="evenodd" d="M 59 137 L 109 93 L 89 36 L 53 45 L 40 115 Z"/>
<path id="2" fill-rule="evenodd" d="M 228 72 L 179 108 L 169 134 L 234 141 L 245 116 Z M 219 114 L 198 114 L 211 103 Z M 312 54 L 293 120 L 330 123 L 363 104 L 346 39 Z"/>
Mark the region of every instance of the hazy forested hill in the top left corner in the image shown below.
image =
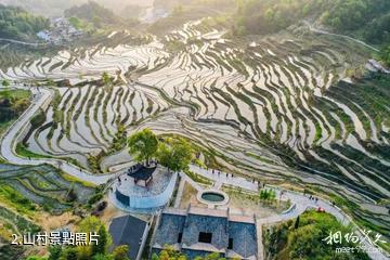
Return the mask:
<path id="1" fill-rule="evenodd" d="M 0 4 L 0 38 L 26 40 L 49 28 L 49 20 L 36 16 L 22 8 Z"/>

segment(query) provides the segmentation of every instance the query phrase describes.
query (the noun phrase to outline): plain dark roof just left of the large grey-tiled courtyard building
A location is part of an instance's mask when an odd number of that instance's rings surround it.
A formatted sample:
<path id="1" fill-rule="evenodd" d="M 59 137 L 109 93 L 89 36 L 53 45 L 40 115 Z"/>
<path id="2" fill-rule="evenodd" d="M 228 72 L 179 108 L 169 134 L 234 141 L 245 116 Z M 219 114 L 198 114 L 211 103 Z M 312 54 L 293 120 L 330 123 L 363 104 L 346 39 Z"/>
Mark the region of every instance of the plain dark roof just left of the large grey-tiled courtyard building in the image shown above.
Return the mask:
<path id="1" fill-rule="evenodd" d="M 146 224 L 145 221 L 130 214 L 114 219 L 109 225 L 113 244 L 115 246 L 128 245 L 129 258 L 136 259 Z"/>

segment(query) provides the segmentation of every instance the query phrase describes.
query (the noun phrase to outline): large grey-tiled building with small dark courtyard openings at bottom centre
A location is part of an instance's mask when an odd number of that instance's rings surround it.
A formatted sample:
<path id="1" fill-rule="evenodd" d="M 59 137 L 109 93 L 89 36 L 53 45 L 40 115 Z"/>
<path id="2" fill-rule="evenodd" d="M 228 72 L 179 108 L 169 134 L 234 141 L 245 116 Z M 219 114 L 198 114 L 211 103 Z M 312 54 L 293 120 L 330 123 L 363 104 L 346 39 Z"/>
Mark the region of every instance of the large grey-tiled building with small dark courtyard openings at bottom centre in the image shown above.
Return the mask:
<path id="1" fill-rule="evenodd" d="M 224 258 L 257 259 L 256 231 L 255 217 L 232 214 L 229 209 L 168 208 L 158 219 L 153 252 L 172 246 L 190 259 L 211 252 Z"/>

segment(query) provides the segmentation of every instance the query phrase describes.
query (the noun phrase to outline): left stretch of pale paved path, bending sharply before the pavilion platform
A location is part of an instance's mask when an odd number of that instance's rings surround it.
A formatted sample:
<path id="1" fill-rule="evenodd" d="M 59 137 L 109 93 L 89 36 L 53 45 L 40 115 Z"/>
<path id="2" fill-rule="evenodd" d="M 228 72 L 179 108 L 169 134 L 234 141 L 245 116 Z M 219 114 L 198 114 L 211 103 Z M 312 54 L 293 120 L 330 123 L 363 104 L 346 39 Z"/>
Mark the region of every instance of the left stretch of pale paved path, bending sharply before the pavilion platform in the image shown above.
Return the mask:
<path id="1" fill-rule="evenodd" d="M 115 177 L 118 173 L 112 174 L 102 174 L 95 176 L 86 170 L 80 170 L 77 166 L 65 162 L 60 159 L 47 158 L 47 159 L 37 159 L 37 158 L 23 158 L 15 154 L 16 142 L 23 130 L 28 127 L 29 120 L 35 115 L 35 113 L 46 103 L 49 99 L 52 98 L 53 92 L 50 89 L 46 88 L 25 88 L 22 86 L 13 86 L 13 88 L 17 89 L 28 89 L 36 95 L 36 99 L 32 101 L 30 107 L 10 127 L 10 129 L 3 134 L 0 139 L 1 145 L 1 156 L 11 164 L 14 165 L 41 165 L 48 164 L 52 165 L 57 169 L 63 170 L 64 172 L 79 178 L 82 181 L 87 181 L 93 184 L 103 184 L 106 183 L 109 179 Z"/>

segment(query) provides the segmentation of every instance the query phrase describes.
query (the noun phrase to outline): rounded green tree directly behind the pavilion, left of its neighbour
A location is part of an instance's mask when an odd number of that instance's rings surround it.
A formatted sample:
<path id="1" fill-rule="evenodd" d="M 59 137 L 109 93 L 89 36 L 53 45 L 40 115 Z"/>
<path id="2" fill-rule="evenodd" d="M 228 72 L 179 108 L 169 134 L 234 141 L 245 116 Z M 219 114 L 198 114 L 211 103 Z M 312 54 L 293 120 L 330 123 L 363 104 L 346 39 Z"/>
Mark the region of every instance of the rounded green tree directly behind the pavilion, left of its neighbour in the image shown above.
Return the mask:
<path id="1" fill-rule="evenodd" d="M 157 136 L 150 130 L 144 129 L 132 134 L 128 140 L 129 153 L 135 160 L 148 161 L 157 152 Z"/>

